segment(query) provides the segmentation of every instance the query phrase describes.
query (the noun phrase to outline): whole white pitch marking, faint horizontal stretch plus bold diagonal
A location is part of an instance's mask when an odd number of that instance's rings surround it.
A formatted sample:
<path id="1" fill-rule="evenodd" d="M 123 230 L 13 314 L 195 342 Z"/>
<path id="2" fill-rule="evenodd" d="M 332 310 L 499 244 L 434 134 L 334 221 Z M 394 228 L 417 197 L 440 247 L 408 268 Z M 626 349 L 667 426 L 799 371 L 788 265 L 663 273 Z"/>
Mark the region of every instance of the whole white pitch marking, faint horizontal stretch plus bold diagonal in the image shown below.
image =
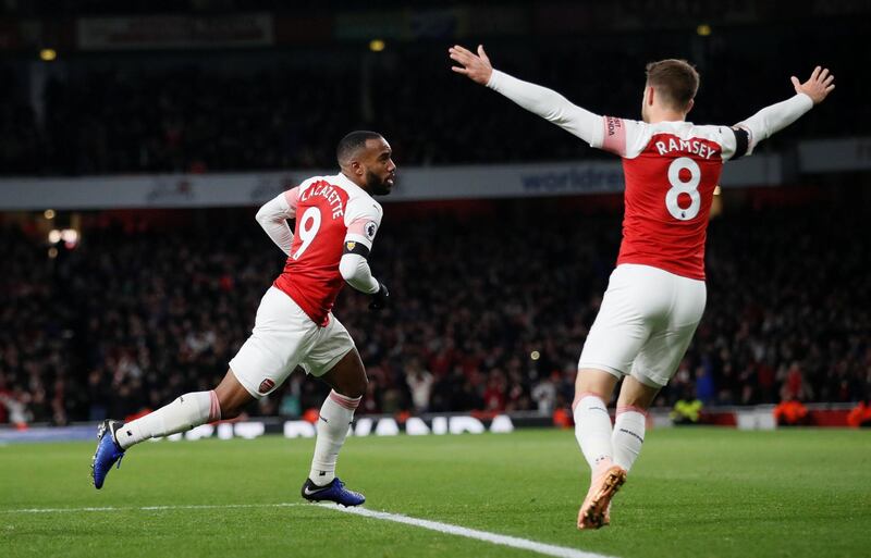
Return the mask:
<path id="1" fill-rule="evenodd" d="M 81 512 L 81 511 L 169 511 L 180 509 L 233 509 L 233 508 L 292 508 L 296 506 L 310 506 L 307 503 L 280 503 L 280 504 L 222 504 L 222 505 L 199 505 L 199 506 L 143 506 L 138 508 L 116 508 L 116 507 L 90 507 L 90 508 L 26 508 L 26 509 L 2 509 L 0 513 L 64 513 L 64 512 Z M 451 523 L 442 523 L 440 521 L 431 521 L 428 519 L 412 518 L 402 516 L 400 513 L 389 513 L 387 511 L 373 511 L 366 508 L 343 508 L 334 504 L 321 504 L 321 508 L 333 511 L 341 511 L 354 516 L 361 516 L 370 519 L 379 519 L 382 521 L 393 521 L 394 523 L 403 523 L 439 533 L 449 535 L 465 536 L 477 541 L 483 541 L 494 545 L 508 546 L 512 548 L 519 548 L 522 550 L 530 550 L 532 553 L 541 554 L 544 556 L 555 556 L 557 558 L 613 558 L 603 554 L 588 553 L 578 550 L 577 548 L 568 548 L 566 546 L 549 545 L 530 541 L 528 538 L 520 538 L 517 536 L 500 535 L 498 533 L 490 533 L 488 531 L 478 531 L 477 529 L 468 529 L 459 525 L 452 525 Z"/>

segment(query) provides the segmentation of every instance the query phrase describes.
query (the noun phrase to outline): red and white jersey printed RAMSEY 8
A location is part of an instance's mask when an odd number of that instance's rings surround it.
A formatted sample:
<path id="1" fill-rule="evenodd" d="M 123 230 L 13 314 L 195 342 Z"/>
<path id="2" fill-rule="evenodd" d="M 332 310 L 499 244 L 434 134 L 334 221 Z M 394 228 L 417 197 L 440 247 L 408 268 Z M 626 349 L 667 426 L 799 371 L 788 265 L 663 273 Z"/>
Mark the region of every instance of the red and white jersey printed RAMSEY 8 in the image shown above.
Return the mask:
<path id="1" fill-rule="evenodd" d="M 623 158 L 621 263 L 652 265 L 704 280 L 704 240 L 723 162 L 735 154 L 727 126 L 603 116 L 601 146 Z"/>

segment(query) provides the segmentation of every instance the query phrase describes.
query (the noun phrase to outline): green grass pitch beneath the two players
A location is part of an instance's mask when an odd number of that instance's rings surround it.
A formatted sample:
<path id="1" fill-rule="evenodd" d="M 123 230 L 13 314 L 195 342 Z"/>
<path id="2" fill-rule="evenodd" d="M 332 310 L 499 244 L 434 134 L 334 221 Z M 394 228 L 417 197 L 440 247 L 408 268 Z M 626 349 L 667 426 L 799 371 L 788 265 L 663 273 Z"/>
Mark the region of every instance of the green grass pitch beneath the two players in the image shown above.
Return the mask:
<path id="1" fill-rule="evenodd" d="M 537 556 L 298 504 L 311 439 L 143 444 L 102 491 L 94 444 L 0 446 L 0 556 Z M 871 432 L 654 430 L 612 525 L 575 529 L 571 431 L 349 438 L 366 507 L 624 558 L 871 556 Z M 248 505 L 248 507 L 226 507 Z M 148 506 L 163 509 L 143 510 Z M 214 506 L 185 509 L 184 506 Z M 23 509 L 123 508 L 22 512 Z"/>

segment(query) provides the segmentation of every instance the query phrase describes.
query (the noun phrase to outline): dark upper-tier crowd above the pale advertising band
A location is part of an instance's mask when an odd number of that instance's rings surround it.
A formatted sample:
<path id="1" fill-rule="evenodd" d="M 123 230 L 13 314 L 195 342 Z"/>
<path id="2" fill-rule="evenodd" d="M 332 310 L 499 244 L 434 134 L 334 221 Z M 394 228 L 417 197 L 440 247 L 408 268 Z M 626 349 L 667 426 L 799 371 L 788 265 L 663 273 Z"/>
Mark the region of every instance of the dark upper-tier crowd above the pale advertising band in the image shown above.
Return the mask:
<path id="1" fill-rule="evenodd" d="M 763 147 L 772 149 L 799 138 L 868 133 L 871 104 L 851 71 L 871 65 L 871 49 L 855 48 L 864 32 L 815 26 L 813 35 L 817 40 L 808 41 L 792 28 L 750 27 L 704 38 L 670 30 L 606 40 L 493 39 L 487 46 L 499 69 L 597 113 L 636 119 L 645 65 L 687 58 L 702 77 L 690 113 L 699 123 L 744 120 L 794 95 L 790 75 L 803 79 L 815 64 L 830 66 L 838 77 L 833 101 Z M 452 73 L 447 46 L 394 42 L 380 53 L 355 45 L 201 57 L 93 54 L 34 75 L 0 66 L 0 173 L 331 168 L 336 131 L 357 127 L 383 133 L 401 165 L 601 157 Z M 759 54 L 772 49 L 789 55 Z"/>

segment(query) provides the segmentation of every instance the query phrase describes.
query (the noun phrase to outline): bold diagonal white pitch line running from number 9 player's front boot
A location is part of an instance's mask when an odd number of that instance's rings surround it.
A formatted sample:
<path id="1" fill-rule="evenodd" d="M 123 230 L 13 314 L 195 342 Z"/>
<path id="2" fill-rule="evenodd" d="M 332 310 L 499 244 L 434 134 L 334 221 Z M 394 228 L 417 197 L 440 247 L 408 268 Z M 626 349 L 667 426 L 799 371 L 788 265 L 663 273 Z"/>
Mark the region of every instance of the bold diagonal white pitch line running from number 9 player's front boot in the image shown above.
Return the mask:
<path id="1" fill-rule="evenodd" d="M 322 505 L 324 508 L 352 513 L 354 516 L 363 516 L 365 518 L 380 519 L 383 521 L 393 521 L 396 523 L 404 523 L 406 525 L 414 525 L 430 531 L 438 531 L 439 533 L 447 533 L 450 535 L 465 536 L 467 538 L 475 538 L 484 541 L 494 545 L 510 546 L 512 548 L 520 548 L 523 550 L 531 550 L 533 553 L 542 554 L 544 556 L 556 556 L 557 558 L 613 558 L 603 554 L 587 553 L 578 550 L 577 548 L 568 548 L 566 546 L 549 545 L 529 541 L 528 538 L 520 538 L 517 536 L 500 535 L 490 533 L 488 531 L 478 531 L 477 529 L 468 529 L 459 525 L 452 525 L 451 523 L 442 523 L 441 521 L 430 521 L 428 519 L 417 519 L 400 513 L 388 513 L 387 511 L 372 511 L 366 508 L 342 508 L 340 506 Z"/>

